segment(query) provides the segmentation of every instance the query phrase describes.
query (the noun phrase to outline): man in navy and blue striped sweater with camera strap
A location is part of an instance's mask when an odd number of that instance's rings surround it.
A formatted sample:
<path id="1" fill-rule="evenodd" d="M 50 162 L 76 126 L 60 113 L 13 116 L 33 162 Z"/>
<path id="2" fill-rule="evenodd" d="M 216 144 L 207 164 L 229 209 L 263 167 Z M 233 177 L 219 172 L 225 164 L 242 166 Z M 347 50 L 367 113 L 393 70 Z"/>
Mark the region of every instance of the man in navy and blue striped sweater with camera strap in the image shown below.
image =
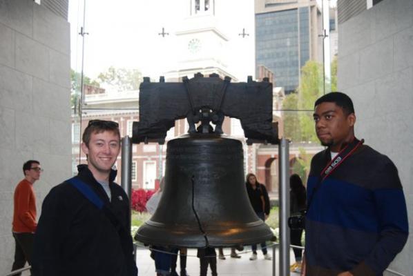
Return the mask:
<path id="1" fill-rule="evenodd" d="M 356 115 L 347 95 L 320 97 L 314 122 L 327 149 L 311 160 L 302 275 L 383 275 L 408 237 L 396 166 L 356 139 Z"/>

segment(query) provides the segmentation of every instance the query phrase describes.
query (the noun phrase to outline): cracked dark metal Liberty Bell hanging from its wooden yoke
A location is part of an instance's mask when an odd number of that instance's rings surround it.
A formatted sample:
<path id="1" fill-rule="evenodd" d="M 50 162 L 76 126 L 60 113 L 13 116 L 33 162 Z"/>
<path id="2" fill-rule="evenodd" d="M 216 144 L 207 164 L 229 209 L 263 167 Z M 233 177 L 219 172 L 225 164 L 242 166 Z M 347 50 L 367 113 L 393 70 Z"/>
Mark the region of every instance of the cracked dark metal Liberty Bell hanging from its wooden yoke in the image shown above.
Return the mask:
<path id="1" fill-rule="evenodd" d="M 247 144 L 279 141 L 268 81 L 230 83 L 228 77 L 200 74 L 182 83 L 144 79 L 140 121 L 133 123 L 132 141 L 163 144 L 175 119 L 185 117 L 189 133 L 168 142 L 160 203 L 135 239 L 203 248 L 257 244 L 273 237 L 249 203 L 242 143 L 222 133 L 224 116 L 240 119 Z"/>

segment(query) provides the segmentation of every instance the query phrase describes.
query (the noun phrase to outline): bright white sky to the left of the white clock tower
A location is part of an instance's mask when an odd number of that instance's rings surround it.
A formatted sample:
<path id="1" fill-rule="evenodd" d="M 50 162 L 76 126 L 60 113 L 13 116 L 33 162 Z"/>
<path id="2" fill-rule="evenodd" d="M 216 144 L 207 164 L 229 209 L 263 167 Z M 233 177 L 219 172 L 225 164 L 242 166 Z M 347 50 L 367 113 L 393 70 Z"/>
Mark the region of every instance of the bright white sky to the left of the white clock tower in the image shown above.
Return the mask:
<path id="1" fill-rule="evenodd" d="M 71 67 L 77 72 L 82 68 L 82 37 L 78 33 L 84 26 L 88 32 L 84 35 L 83 55 L 86 76 L 96 79 L 100 72 L 115 66 L 137 68 L 146 76 L 159 77 L 160 68 L 168 70 L 171 68 L 166 64 L 174 66 L 171 49 L 175 42 L 171 36 L 161 37 L 158 33 L 162 26 L 166 26 L 166 32 L 176 29 L 175 18 L 180 14 L 184 17 L 182 10 L 176 8 L 179 5 L 174 5 L 175 1 L 182 0 L 70 0 Z M 225 24 L 231 23 L 229 19 Z M 232 59 L 233 62 L 237 60 L 240 58 Z"/>

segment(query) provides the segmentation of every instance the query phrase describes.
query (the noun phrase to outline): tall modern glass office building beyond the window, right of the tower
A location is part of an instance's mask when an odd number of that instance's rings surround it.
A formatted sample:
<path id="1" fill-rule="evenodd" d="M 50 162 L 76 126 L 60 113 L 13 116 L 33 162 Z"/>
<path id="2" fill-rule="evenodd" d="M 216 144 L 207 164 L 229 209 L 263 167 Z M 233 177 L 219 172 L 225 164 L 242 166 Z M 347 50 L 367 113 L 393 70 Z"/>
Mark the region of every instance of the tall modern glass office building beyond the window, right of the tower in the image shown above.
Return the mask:
<path id="1" fill-rule="evenodd" d="M 256 66 L 274 74 L 288 94 L 308 60 L 322 61 L 323 21 L 315 0 L 256 0 Z"/>

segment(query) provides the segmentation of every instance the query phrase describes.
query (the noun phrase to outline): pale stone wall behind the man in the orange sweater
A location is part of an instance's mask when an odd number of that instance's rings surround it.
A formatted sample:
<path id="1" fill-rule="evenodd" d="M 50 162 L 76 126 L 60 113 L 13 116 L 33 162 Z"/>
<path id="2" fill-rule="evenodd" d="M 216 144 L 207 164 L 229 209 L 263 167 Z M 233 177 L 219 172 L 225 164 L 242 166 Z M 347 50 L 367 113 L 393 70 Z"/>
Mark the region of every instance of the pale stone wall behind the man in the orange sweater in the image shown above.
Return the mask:
<path id="1" fill-rule="evenodd" d="M 0 275 L 12 266 L 13 193 L 28 159 L 44 172 L 37 213 L 70 177 L 70 32 L 64 17 L 32 0 L 0 0 Z"/>

